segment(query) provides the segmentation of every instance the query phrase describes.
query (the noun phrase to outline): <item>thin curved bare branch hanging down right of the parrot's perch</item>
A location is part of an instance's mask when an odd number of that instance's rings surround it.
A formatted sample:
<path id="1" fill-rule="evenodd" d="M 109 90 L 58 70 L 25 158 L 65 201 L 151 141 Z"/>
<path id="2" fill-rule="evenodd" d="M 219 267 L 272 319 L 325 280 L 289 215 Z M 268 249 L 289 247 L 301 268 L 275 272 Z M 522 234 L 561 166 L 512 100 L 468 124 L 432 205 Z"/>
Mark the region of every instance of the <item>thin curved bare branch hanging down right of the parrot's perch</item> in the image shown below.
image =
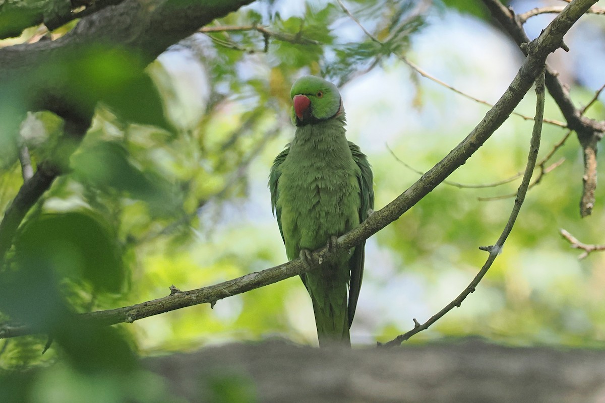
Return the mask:
<path id="1" fill-rule="evenodd" d="M 515 203 L 512 206 L 511 215 L 508 218 L 508 222 L 506 222 L 506 226 L 500 234 L 500 237 L 496 241 L 494 245 L 489 247 L 481 247 L 481 250 L 485 250 L 489 252 L 488 259 L 485 264 L 477 273 L 477 276 L 471 281 L 471 283 L 465 288 L 464 291 L 458 297 L 456 297 L 453 301 L 451 301 L 448 305 L 446 305 L 441 311 L 437 312 L 437 314 L 433 315 L 429 320 L 425 323 L 420 324 L 416 319 L 414 319 L 414 328 L 408 331 L 405 334 L 399 335 L 393 340 L 389 341 L 385 344 L 385 346 L 398 346 L 402 342 L 408 340 L 413 335 L 421 332 L 422 330 L 428 329 L 431 324 L 435 323 L 437 320 L 443 317 L 443 315 L 450 312 L 452 309 L 456 307 L 460 307 L 462 302 L 465 300 L 471 292 L 474 292 L 479 282 L 483 279 L 486 272 L 488 272 L 495 258 L 502 252 L 502 247 L 506 238 L 511 233 L 512 227 L 517 220 L 517 216 L 519 211 L 521 210 L 521 206 L 523 205 L 523 201 L 525 201 L 525 195 L 529 189 L 529 181 L 531 179 L 532 173 L 534 172 L 535 162 L 538 157 L 538 150 L 540 149 L 540 137 L 542 133 L 542 118 L 544 117 L 544 71 L 537 77 L 535 82 L 535 92 L 537 95 L 536 106 L 535 106 L 535 122 L 534 129 L 532 131 L 531 142 L 529 145 L 529 155 L 528 155 L 528 163 L 525 167 L 525 173 L 523 174 L 523 180 L 518 187 L 517 190 L 517 199 L 515 199 Z"/>

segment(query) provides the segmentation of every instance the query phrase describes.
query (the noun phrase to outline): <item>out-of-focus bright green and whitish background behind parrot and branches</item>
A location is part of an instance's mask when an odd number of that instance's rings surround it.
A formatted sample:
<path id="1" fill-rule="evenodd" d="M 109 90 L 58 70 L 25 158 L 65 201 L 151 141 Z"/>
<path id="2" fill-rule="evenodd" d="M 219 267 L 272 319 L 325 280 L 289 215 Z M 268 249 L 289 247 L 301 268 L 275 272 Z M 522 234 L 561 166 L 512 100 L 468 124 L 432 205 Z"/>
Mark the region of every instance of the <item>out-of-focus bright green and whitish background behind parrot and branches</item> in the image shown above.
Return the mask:
<path id="1" fill-rule="evenodd" d="M 564 4 L 510 3 L 517 12 Z M 273 157 L 294 133 L 289 91 L 297 77 L 317 74 L 340 86 L 348 138 L 373 166 L 378 209 L 420 177 L 415 170 L 425 172 L 453 149 L 488 110 L 420 76 L 402 56 L 488 103 L 502 95 L 523 62 L 480 2 L 345 6 L 383 45 L 337 2 L 258 1 L 149 65 L 154 91 L 146 83 L 130 89 L 128 105 L 97 107 L 93 127 L 71 156 L 73 171 L 36 208 L 47 219 L 19 238 L 27 251 L 41 242 L 39 231 L 57 234 L 61 245 L 94 233 L 90 256 L 74 257 L 54 244 L 36 249 L 36 257 L 53 256 L 53 264 L 64 268 L 53 278 L 71 309 L 119 308 L 168 295 L 171 285 L 200 288 L 286 261 L 267 177 Z M 552 18 L 529 19 L 528 35 L 537 36 Z M 27 42 L 39 29 L 0 45 Z M 605 17 L 584 16 L 566 43 L 569 53 L 558 50 L 549 63 L 576 105 L 585 105 L 605 83 Z M 124 67 L 103 63 L 91 68 Z M 589 117 L 604 118 L 603 99 Z M 142 114 L 154 108 L 162 108 L 165 118 Z M 532 117 L 534 108 L 529 92 L 517 112 Z M 545 116 L 564 121 L 550 98 Z M 353 344 L 372 345 L 410 330 L 412 318 L 427 320 L 473 279 L 487 257 L 479 247 L 494 243 L 502 231 L 514 203 L 507 195 L 516 192 L 520 178 L 488 184 L 523 171 L 531 129 L 531 120 L 512 115 L 451 175 L 451 184 L 439 185 L 368 240 Z M 41 161 L 59 152 L 60 130 L 54 115 L 30 114 L 20 144 Z M 565 134 L 564 127 L 545 124 L 538 159 Z M 0 204 L 6 206 L 22 178 L 15 153 L 10 147 L 3 152 Z M 407 343 L 476 335 L 514 345 L 603 346 L 605 254 L 578 260 L 580 253 L 558 231 L 565 228 L 586 243 L 605 242 L 605 191 L 598 188 L 592 216 L 580 219 L 582 155 L 575 134 L 545 167 L 552 170 L 529 191 L 503 253 L 476 292 Z M 89 268 L 65 269 L 70 265 Z M 194 306 L 116 327 L 142 355 L 269 338 L 316 344 L 312 307 L 298 278 L 220 300 L 214 309 Z M 60 349 L 51 346 L 41 356 L 46 342 L 40 335 L 0 341 L 0 366 L 53 362 Z"/>

